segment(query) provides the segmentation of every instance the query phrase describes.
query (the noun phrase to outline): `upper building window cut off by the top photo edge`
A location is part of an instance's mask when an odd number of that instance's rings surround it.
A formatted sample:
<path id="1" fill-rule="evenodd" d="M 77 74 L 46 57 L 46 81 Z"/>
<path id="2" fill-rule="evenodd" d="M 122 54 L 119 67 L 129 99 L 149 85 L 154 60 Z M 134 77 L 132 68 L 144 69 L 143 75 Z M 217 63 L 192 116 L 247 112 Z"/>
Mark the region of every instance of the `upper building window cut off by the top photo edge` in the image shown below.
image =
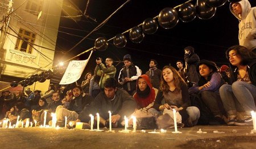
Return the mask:
<path id="1" fill-rule="evenodd" d="M 39 12 L 42 10 L 42 5 L 43 0 L 28 0 L 26 5 L 26 11 L 38 16 Z"/>

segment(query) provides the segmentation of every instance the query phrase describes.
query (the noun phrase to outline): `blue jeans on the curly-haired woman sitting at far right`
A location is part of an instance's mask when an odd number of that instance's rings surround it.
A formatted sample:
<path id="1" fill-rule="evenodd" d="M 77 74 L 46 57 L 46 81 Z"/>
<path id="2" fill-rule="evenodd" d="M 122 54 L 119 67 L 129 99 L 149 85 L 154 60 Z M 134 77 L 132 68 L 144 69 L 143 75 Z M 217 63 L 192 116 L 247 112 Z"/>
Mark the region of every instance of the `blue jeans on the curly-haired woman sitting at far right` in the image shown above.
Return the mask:
<path id="1" fill-rule="evenodd" d="M 251 110 L 256 110 L 256 87 L 253 84 L 242 81 L 234 82 L 232 86 L 224 84 L 220 87 L 220 96 L 229 116 L 236 116 L 237 111 L 250 116 Z"/>

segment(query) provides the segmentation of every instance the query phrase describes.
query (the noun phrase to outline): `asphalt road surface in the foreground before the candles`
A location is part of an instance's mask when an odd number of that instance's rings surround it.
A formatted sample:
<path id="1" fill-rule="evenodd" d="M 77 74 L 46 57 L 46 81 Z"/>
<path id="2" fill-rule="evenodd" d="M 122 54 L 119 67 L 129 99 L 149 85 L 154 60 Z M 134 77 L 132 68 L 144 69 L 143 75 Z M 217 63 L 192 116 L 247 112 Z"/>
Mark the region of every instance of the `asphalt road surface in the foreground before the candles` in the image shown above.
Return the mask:
<path id="1" fill-rule="evenodd" d="M 196 133 L 199 129 L 207 132 Z M 252 126 L 195 126 L 178 129 L 181 134 L 107 133 L 39 127 L 0 129 L 0 148 L 256 148 Z M 224 133 L 213 133 L 214 130 Z M 160 130 L 156 130 L 159 132 Z"/>

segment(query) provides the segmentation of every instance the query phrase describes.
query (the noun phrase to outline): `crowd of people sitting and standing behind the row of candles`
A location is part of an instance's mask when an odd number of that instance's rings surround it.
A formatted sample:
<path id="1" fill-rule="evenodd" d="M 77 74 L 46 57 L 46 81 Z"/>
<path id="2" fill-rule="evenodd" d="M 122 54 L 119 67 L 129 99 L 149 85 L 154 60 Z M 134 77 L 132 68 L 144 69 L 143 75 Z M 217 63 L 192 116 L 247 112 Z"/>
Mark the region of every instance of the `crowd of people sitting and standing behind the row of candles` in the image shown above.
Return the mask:
<path id="1" fill-rule="evenodd" d="M 227 64 L 218 67 L 216 62 L 200 60 L 195 49 L 188 46 L 184 49 L 185 67 L 180 59 L 176 69 L 168 65 L 158 70 L 157 62 L 151 59 L 146 74 L 126 54 L 118 79 L 113 59 L 107 57 L 104 64 L 97 58 L 94 74 L 87 73 L 81 86 L 49 84 L 44 94 L 30 88 L 18 95 L 2 91 L 0 119 L 15 122 L 19 116 L 19 120 L 30 118 L 42 125 L 47 112 L 47 125 L 52 125 L 51 113 L 56 113 L 59 126 L 65 125 L 65 117 L 67 123 L 84 122 L 89 126 L 89 114 L 99 113 L 101 127 L 109 123 L 119 127 L 124 116 L 134 114 L 140 122 L 153 117 L 150 120 L 159 125 L 158 118 L 175 109 L 185 127 L 253 125 L 250 112 L 256 111 L 256 55 L 240 45 L 230 47 L 225 54 Z M 152 84 L 159 84 L 158 88 Z"/>

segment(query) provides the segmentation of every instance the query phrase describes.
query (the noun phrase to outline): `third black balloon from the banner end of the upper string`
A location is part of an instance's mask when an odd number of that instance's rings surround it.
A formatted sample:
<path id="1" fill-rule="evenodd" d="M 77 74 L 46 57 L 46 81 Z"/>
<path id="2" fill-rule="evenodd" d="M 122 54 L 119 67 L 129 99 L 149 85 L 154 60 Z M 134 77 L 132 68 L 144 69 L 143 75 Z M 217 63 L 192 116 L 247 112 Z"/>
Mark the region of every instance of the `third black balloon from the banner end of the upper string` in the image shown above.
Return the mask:
<path id="1" fill-rule="evenodd" d="M 140 43 L 144 38 L 144 33 L 142 31 L 141 27 L 134 27 L 131 28 L 130 32 L 129 32 L 129 39 L 131 40 L 131 42 L 134 43 Z"/>

